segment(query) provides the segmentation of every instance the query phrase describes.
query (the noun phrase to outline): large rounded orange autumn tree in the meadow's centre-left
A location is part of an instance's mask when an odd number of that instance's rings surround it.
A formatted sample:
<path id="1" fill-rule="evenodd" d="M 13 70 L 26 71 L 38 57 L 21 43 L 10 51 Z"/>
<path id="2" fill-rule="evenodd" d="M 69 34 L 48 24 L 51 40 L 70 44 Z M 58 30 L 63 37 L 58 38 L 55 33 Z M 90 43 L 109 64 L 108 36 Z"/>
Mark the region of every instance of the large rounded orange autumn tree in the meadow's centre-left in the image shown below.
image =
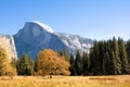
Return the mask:
<path id="1" fill-rule="evenodd" d="M 44 49 L 39 52 L 37 60 L 38 75 L 69 75 L 69 63 L 57 52 Z"/>

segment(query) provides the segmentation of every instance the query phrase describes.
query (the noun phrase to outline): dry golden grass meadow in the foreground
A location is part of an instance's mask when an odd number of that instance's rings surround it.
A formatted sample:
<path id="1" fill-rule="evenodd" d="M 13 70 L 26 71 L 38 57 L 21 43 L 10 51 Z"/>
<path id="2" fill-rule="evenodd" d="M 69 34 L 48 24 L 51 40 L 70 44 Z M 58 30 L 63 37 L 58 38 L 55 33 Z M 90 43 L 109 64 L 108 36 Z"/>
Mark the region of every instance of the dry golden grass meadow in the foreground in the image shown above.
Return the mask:
<path id="1" fill-rule="evenodd" d="M 0 77 L 0 87 L 130 87 L 130 75 Z"/>

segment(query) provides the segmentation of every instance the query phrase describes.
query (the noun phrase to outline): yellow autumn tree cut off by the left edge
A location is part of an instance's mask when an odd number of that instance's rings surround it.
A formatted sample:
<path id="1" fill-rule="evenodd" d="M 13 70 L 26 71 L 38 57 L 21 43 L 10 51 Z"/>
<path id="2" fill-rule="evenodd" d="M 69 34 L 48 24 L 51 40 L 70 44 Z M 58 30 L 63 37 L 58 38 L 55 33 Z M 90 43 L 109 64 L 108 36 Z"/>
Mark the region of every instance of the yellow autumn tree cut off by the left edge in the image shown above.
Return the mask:
<path id="1" fill-rule="evenodd" d="M 8 59 L 6 51 L 0 47 L 0 76 L 16 75 L 16 70 L 11 65 L 11 60 Z"/>

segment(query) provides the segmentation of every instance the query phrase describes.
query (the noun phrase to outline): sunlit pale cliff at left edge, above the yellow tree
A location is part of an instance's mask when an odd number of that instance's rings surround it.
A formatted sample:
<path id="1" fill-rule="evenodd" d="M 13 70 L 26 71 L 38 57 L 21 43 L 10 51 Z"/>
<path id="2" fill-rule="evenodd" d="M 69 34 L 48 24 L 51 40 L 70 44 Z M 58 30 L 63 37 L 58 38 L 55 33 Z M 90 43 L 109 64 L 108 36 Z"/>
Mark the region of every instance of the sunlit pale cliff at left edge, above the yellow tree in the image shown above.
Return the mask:
<path id="1" fill-rule="evenodd" d="M 0 48 L 5 49 L 8 59 L 17 59 L 13 36 L 0 35 Z"/>

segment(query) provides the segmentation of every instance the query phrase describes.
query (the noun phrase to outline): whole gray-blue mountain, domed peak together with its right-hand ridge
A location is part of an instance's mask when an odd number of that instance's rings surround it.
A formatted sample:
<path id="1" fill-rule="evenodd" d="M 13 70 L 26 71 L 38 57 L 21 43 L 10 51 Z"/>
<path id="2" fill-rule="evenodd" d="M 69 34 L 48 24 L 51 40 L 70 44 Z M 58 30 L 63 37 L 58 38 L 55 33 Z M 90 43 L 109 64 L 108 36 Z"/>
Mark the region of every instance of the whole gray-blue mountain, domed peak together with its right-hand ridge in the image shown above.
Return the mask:
<path id="1" fill-rule="evenodd" d="M 68 53 L 76 50 L 89 51 L 92 40 L 75 35 L 54 33 L 51 27 L 39 22 L 26 22 L 25 26 L 14 35 L 17 55 L 24 52 L 32 59 L 42 49 L 53 49 L 56 51 L 66 50 Z"/>

